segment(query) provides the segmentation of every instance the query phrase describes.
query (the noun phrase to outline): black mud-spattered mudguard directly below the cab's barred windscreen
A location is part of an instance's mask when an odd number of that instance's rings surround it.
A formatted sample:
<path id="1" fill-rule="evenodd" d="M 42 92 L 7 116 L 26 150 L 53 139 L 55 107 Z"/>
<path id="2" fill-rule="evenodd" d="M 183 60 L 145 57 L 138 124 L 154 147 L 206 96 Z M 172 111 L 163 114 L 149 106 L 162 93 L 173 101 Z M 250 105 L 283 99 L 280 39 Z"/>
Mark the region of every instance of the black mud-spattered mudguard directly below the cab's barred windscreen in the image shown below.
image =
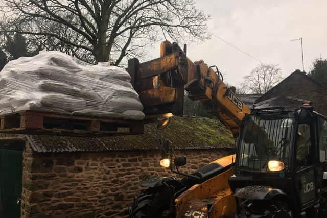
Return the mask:
<path id="1" fill-rule="evenodd" d="M 271 200 L 276 196 L 287 197 L 281 189 L 260 185 L 236 189 L 234 196 L 245 200 Z"/>

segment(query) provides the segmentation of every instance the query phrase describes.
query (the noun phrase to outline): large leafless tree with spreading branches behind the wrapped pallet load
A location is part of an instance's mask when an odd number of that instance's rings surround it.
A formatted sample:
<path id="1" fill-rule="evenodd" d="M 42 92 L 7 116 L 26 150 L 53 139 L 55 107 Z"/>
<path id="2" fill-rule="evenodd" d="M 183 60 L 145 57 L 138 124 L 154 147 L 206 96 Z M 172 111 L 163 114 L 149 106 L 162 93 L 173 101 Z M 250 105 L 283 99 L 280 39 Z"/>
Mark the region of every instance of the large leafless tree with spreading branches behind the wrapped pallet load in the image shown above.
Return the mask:
<path id="1" fill-rule="evenodd" d="M 32 35 L 87 62 L 142 57 L 145 46 L 209 38 L 193 0 L 4 0 L 6 32 Z"/>

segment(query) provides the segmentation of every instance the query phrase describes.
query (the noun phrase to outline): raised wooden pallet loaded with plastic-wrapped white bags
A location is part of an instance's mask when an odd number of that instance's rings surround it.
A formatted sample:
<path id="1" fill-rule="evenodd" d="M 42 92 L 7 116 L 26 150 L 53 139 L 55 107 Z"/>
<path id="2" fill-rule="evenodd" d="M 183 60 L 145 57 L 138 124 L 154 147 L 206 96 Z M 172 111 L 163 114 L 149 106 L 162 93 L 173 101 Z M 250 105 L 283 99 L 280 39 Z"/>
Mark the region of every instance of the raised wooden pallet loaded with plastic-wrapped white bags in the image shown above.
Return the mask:
<path id="1" fill-rule="evenodd" d="M 124 69 L 42 51 L 0 73 L 0 132 L 72 136 L 143 133 L 143 106 Z"/>

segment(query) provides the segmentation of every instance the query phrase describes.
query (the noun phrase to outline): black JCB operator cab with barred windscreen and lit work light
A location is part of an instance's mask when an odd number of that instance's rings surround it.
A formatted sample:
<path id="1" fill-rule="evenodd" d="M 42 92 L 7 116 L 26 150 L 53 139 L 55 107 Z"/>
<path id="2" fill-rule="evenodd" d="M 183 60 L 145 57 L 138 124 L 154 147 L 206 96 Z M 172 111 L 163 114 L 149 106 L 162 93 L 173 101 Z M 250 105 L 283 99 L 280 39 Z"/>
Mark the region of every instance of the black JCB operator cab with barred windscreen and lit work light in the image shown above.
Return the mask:
<path id="1" fill-rule="evenodd" d="M 278 196 L 300 214 L 318 205 L 326 181 L 327 119 L 323 115 L 309 105 L 295 111 L 260 109 L 247 115 L 235 175 L 229 178 L 238 199 L 253 206 L 252 201 L 269 202 Z M 259 215 L 262 208 L 257 208 Z"/>

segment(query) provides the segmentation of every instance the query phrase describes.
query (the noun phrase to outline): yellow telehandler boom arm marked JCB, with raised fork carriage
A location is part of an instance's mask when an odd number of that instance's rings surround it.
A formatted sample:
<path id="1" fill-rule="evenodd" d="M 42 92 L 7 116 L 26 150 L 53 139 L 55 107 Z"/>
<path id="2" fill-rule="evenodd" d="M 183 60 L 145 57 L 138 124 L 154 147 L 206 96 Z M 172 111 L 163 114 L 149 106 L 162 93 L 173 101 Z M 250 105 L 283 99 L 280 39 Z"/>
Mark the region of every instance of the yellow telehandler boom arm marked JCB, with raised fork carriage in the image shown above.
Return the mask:
<path id="1" fill-rule="evenodd" d="M 161 43 L 160 58 L 144 63 L 128 61 L 128 72 L 148 118 L 158 114 L 182 115 L 184 89 L 199 100 L 236 137 L 245 114 L 251 111 L 223 82 L 217 66 L 192 62 L 177 43 Z"/>

